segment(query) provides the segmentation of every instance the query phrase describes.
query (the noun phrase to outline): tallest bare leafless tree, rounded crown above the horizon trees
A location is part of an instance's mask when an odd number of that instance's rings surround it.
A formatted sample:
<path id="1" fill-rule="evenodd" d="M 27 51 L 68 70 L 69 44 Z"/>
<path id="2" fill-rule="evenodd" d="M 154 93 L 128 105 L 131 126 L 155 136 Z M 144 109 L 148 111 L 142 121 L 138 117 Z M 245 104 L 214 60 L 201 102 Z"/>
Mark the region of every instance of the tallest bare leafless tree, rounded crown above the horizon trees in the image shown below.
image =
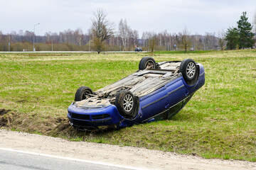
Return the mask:
<path id="1" fill-rule="evenodd" d="M 114 35 L 114 23 L 107 20 L 107 13 L 98 8 L 92 18 L 92 43 L 94 49 L 100 54 L 104 50 L 104 42 Z"/>

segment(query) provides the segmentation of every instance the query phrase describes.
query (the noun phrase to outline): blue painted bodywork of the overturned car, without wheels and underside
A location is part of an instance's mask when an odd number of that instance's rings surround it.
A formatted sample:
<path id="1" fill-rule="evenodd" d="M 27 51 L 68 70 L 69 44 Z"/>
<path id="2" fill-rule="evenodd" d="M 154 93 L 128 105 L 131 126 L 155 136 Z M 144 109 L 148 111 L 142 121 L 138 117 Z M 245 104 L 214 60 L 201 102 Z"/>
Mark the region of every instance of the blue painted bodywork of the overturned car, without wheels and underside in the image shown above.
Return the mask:
<path id="1" fill-rule="evenodd" d="M 175 63 L 176 62 L 174 62 L 174 64 Z M 113 102 L 103 104 L 102 106 L 94 105 L 92 107 L 85 104 L 85 107 L 78 107 L 75 106 L 74 102 L 68 107 L 68 119 L 70 125 L 81 130 L 108 125 L 123 128 L 134 125 L 134 123 L 171 118 L 186 105 L 195 91 L 200 89 L 205 83 L 205 70 L 203 65 L 196 63 L 196 67 L 198 68 L 198 75 L 196 81 L 192 85 L 188 85 L 183 75 L 177 72 L 175 73 L 175 77 L 171 77 L 167 80 L 164 78 L 165 83 L 160 85 L 156 84 L 156 87 L 154 87 L 153 90 L 148 90 L 149 93 L 134 95 L 134 98 L 137 99 L 137 113 L 132 118 L 126 118 L 119 113 L 117 106 L 115 106 Z M 161 69 L 159 69 L 159 71 L 161 71 Z M 143 73 L 143 71 L 138 71 L 135 75 L 142 74 L 140 72 Z M 144 72 L 149 72 L 149 70 Z M 152 72 L 154 73 L 154 70 Z M 157 73 L 157 75 L 158 74 L 159 73 Z M 109 86 L 110 89 L 111 87 L 113 87 L 113 85 Z M 86 103 L 85 101 L 83 102 Z"/>

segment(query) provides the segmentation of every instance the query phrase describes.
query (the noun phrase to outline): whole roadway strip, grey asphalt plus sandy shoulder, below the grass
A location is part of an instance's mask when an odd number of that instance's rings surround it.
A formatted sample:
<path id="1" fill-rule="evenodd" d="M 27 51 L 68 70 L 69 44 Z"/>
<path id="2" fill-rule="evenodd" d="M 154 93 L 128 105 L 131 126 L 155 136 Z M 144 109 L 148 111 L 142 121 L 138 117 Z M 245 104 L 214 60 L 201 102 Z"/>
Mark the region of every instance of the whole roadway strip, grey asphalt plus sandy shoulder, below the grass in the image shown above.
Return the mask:
<path id="1" fill-rule="evenodd" d="M 0 129 L 0 170 L 5 169 L 256 170 L 256 163 L 203 159 Z"/>

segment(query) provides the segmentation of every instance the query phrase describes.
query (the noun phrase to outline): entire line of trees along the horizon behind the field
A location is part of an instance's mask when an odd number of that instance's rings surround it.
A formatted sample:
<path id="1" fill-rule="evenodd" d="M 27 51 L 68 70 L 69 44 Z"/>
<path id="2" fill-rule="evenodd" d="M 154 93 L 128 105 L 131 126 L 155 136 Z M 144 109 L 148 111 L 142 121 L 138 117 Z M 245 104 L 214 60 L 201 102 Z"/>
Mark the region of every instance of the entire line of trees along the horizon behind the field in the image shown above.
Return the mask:
<path id="1" fill-rule="evenodd" d="M 121 19 L 117 27 L 116 30 L 114 23 L 107 19 L 104 10 L 97 9 L 93 13 L 92 26 L 86 33 L 81 28 L 64 30 L 60 33 L 47 32 L 45 35 L 34 35 L 33 31 L 29 30 L 4 34 L 0 30 L 0 51 L 33 51 L 33 38 L 35 38 L 36 51 L 97 51 L 98 53 L 131 51 L 134 47 L 142 47 L 143 50 L 151 52 L 233 50 L 253 47 L 255 42 L 252 25 L 247 22 L 246 12 L 242 13 L 238 28 L 228 28 L 227 32 L 221 30 L 218 33 L 205 33 L 205 35 L 192 35 L 187 28 L 184 28 L 180 33 L 169 33 L 167 30 L 160 33 L 144 31 L 139 38 L 138 31 L 130 28 L 126 19 Z M 250 43 L 247 40 L 250 40 Z"/>

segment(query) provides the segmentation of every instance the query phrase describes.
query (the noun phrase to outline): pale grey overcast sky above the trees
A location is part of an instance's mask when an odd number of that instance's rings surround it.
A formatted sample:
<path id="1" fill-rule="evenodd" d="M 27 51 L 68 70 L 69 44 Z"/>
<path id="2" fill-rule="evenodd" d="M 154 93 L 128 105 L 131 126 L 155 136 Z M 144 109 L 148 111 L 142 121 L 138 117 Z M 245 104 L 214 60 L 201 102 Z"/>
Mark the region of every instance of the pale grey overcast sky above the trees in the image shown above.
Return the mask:
<path id="1" fill-rule="evenodd" d="M 255 0 L 0 0 L 0 30 L 46 32 L 90 28 L 93 11 L 102 8 L 116 28 L 120 19 L 127 19 L 133 30 L 159 33 L 181 32 L 185 27 L 191 34 L 217 33 L 237 26 L 242 11 L 247 11 L 252 23 L 256 11 Z"/>

